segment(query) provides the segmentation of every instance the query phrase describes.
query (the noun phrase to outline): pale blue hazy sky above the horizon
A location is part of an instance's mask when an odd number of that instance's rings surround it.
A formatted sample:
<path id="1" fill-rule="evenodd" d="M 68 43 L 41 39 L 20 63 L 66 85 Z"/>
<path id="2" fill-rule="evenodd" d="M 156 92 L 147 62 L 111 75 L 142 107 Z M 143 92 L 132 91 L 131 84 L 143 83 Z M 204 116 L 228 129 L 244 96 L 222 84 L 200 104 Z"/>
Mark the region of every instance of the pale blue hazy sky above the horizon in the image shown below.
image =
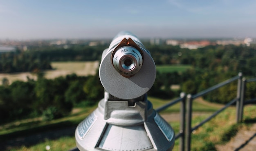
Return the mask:
<path id="1" fill-rule="evenodd" d="M 0 0 L 0 39 L 256 37 L 256 0 Z"/>

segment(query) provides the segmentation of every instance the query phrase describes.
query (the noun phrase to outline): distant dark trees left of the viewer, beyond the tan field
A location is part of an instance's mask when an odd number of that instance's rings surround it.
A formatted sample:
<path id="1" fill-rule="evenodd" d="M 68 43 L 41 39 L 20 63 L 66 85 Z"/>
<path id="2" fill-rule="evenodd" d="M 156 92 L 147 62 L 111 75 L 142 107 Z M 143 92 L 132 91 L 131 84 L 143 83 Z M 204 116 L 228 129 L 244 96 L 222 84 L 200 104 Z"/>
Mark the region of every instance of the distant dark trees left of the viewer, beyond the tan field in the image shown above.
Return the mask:
<path id="1" fill-rule="evenodd" d="M 51 70 L 53 61 L 95 61 L 107 46 L 72 45 L 64 49 L 57 46 L 32 47 L 27 51 L 0 53 L 0 73 L 39 72 Z"/>

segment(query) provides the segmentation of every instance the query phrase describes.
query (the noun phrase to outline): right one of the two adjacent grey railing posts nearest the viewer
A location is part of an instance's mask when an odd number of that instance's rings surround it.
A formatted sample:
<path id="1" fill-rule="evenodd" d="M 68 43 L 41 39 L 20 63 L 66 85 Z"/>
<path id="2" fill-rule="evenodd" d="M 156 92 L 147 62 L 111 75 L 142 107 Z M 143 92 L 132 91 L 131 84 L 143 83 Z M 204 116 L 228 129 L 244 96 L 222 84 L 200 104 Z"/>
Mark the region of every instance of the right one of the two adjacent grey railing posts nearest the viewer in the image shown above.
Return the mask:
<path id="1" fill-rule="evenodd" d="M 185 146 L 186 151 L 190 151 L 191 147 L 191 118 L 192 118 L 192 95 L 187 95 L 186 100 L 186 130 L 185 130 Z"/>

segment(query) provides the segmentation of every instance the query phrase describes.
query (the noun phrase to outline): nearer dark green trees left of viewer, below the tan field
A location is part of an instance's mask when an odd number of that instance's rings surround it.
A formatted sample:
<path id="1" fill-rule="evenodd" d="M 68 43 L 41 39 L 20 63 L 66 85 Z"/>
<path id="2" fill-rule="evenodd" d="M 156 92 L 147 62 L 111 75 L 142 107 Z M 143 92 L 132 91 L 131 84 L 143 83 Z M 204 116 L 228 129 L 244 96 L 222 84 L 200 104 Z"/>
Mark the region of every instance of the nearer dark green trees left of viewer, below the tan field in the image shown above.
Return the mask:
<path id="1" fill-rule="evenodd" d="M 91 106 L 103 98 L 97 76 L 76 74 L 0 86 L 0 123 L 42 116 L 52 120 L 68 115 L 73 107 Z"/>

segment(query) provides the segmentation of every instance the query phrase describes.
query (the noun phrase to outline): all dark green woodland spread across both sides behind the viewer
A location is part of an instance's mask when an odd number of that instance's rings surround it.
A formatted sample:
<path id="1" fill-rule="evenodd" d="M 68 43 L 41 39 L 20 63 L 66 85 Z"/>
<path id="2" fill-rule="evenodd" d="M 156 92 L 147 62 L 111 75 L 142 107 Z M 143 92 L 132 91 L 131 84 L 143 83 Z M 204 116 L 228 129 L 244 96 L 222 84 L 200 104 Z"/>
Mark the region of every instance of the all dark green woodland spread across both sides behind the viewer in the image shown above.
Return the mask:
<path id="1" fill-rule="evenodd" d="M 1 122 L 43 115 L 47 120 L 65 116 L 73 107 L 90 106 L 103 98 L 99 75 L 79 77 L 75 74 L 53 80 L 43 78 L 41 71 L 51 69 L 52 61 L 100 60 L 108 46 L 74 45 L 69 49 L 59 47 L 33 48 L 16 53 L 0 54 L 0 72 L 36 71 L 38 80 L 16 81 L 8 85 L 5 79 L 0 86 Z M 177 97 L 181 91 L 195 94 L 242 72 L 247 77 L 256 76 L 256 47 L 244 45 L 215 45 L 197 50 L 179 46 L 145 45 L 155 60 L 161 64 L 188 64 L 185 72 L 159 73 L 148 95 L 162 98 Z M 3 64 L 9 64 L 4 65 Z M 4 68 L 3 68 L 4 67 Z M 6 83 L 6 84 L 4 84 Z M 173 91 L 170 86 L 180 84 Z M 236 84 L 231 83 L 205 95 L 211 102 L 226 103 L 236 97 Z M 248 84 L 247 97 L 256 98 L 256 84 Z M 2 120 L 3 119 L 3 120 Z"/>

